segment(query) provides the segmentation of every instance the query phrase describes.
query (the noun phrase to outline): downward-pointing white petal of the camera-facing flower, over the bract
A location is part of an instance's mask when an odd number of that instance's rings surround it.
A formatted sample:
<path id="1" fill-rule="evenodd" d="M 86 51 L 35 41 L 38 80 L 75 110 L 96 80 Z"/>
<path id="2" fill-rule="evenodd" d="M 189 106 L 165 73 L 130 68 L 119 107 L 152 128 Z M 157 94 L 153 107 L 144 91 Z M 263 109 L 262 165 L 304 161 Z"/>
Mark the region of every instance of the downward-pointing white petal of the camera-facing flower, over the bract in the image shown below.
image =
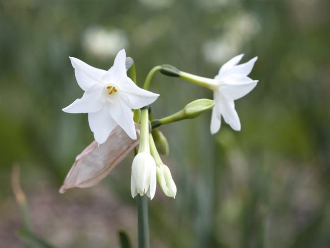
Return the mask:
<path id="1" fill-rule="evenodd" d="M 104 104 L 100 111 L 88 113 L 90 130 L 99 144 L 106 142 L 108 136 L 116 126 L 116 122 L 109 113 L 109 105 Z"/>

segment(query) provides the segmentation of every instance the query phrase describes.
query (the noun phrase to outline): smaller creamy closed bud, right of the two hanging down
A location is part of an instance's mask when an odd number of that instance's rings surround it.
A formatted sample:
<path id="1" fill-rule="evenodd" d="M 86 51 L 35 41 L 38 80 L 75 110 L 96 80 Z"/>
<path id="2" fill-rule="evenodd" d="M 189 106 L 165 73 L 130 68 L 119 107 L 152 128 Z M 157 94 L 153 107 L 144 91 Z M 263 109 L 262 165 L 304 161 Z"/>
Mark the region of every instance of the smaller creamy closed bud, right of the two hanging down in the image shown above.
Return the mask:
<path id="1" fill-rule="evenodd" d="M 157 183 L 166 196 L 176 198 L 176 184 L 165 164 L 157 165 Z"/>

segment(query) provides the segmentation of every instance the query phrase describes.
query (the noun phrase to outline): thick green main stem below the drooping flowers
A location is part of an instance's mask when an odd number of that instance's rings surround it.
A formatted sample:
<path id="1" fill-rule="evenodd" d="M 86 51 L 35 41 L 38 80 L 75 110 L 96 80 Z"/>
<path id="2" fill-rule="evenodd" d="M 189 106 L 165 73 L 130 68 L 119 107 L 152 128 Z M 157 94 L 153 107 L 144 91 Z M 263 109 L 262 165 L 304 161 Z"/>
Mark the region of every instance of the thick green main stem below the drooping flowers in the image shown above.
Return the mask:
<path id="1" fill-rule="evenodd" d="M 139 248 L 149 248 L 148 197 L 137 195 Z"/>

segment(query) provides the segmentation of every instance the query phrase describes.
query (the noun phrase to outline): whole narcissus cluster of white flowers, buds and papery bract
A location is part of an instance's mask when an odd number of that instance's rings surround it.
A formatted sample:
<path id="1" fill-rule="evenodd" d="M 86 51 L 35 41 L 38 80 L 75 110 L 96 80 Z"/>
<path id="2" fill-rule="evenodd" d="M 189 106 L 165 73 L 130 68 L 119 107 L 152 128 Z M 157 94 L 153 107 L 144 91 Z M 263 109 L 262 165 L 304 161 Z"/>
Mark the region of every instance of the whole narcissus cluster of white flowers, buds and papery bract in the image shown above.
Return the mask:
<path id="1" fill-rule="evenodd" d="M 157 66 L 148 74 L 144 89 L 127 76 L 128 69 L 133 69 L 131 72 L 135 75 L 135 67 L 127 63 L 132 59 L 126 57 L 124 49 L 118 52 L 113 66 L 107 71 L 70 57 L 77 83 L 85 93 L 63 111 L 88 113 L 88 123 L 95 141 L 77 156 L 60 192 L 64 193 L 72 187 L 96 185 L 138 145 L 132 161 L 132 197 L 146 194 L 153 199 L 158 183 L 166 196 L 175 198 L 176 184 L 169 167 L 159 155 L 168 155 L 169 145 L 158 128 L 183 119 L 196 118 L 212 109 L 211 134 L 220 130 L 222 117 L 232 129 L 240 131 L 241 122 L 234 101 L 249 93 L 258 83 L 258 80 L 248 77 L 257 57 L 238 65 L 242 57 L 243 54 L 235 56 L 225 63 L 213 79 L 183 72 L 170 65 Z M 214 100 L 198 99 L 177 113 L 154 119 L 149 114 L 149 105 L 154 103 L 159 94 L 148 91 L 148 87 L 156 71 L 210 89 Z"/>

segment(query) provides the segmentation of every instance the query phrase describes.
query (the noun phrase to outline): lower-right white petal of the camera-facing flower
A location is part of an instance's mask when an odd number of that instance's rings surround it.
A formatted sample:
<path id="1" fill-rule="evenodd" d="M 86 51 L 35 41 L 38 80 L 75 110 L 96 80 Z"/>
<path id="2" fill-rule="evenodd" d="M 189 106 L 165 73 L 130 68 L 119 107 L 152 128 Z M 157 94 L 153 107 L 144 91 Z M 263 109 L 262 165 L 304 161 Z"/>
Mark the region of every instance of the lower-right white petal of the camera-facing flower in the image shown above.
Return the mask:
<path id="1" fill-rule="evenodd" d="M 122 96 L 118 96 L 116 102 L 110 105 L 109 112 L 126 134 L 136 139 L 132 109 L 124 102 Z"/>

